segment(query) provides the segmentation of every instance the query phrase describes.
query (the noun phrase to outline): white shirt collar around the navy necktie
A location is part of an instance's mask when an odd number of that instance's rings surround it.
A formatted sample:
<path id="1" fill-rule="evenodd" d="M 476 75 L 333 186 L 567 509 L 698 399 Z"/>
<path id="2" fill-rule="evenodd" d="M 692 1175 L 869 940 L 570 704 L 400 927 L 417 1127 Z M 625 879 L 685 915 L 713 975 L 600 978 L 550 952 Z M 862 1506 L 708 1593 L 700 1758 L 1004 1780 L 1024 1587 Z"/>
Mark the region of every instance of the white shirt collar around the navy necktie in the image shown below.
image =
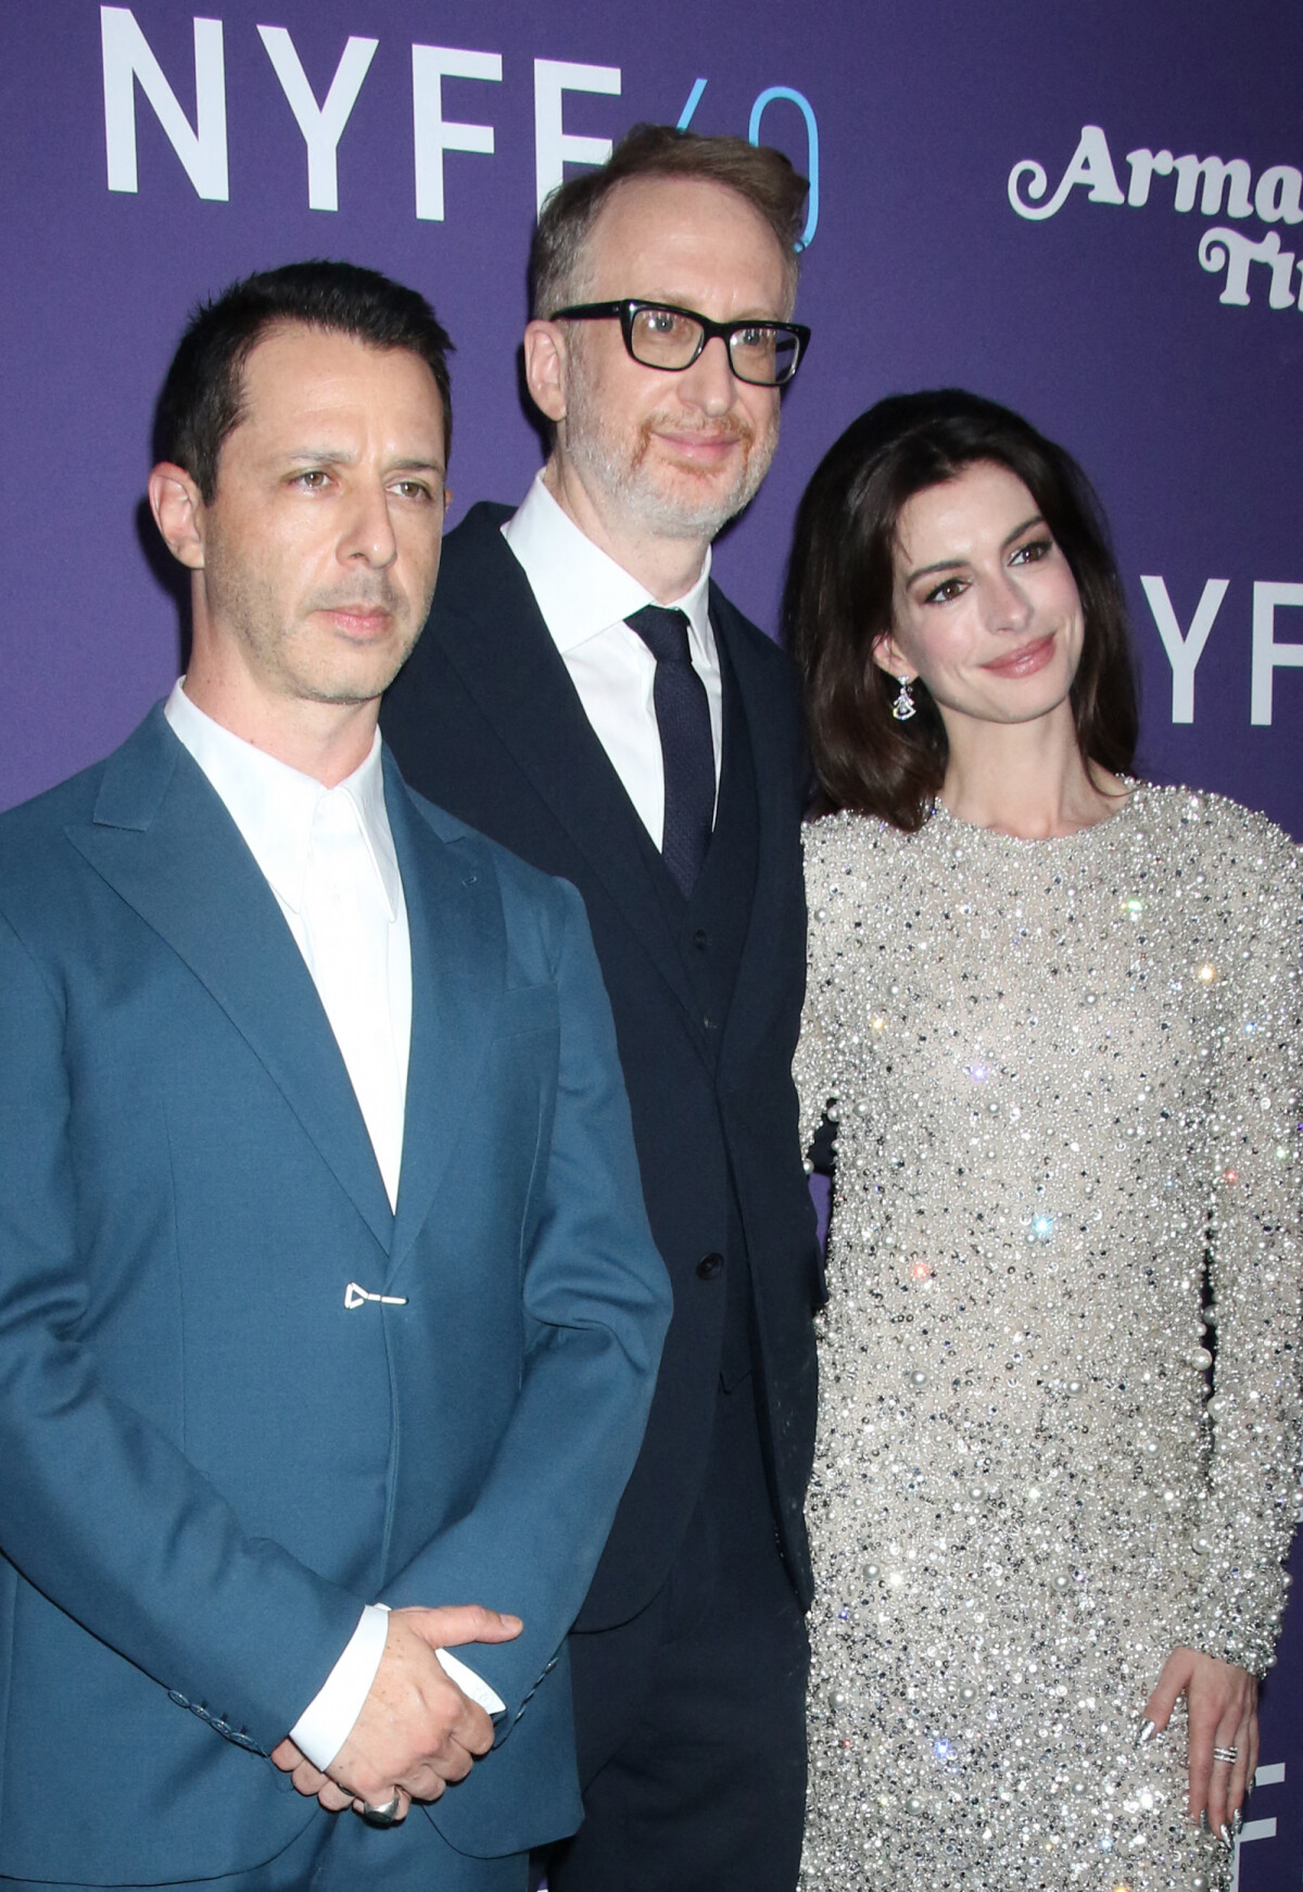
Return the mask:
<path id="1" fill-rule="evenodd" d="M 645 604 L 656 604 L 645 585 L 579 530 L 548 492 L 543 473 L 535 475 L 520 509 L 503 526 L 503 537 L 530 579 L 543 622 L 562 657 L 611 624 L 620 624 Z M 709 583 L 707 547 L 696 585 L 673 600 L 675 609 L 686 613 L 694 655 L 705 660 L 713 660 L 715 647 Z"/>

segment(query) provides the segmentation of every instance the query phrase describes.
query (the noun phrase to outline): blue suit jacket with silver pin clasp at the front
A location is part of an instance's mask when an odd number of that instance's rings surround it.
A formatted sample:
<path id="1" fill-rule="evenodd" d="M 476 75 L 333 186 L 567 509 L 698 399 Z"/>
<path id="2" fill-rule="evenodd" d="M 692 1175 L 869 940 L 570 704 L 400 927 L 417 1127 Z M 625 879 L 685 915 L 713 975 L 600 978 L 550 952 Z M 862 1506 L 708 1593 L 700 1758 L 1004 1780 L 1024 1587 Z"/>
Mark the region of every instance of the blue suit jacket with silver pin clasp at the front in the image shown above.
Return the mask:
<path id="1" fill-rule="evenodd" d="M 276 899 L 161 710 L 0 817 L 4 1875 L 278 1854 L 325 1814 L 263 1754 L 374 1599 L 524 1618 L 467 1652 L 507 1716 L 441 1830 L 490 1854 L 579 1820 L 550 1671 L 669 1296 L 579 897 L 388 757 L 386 804 L 397 1215 Z M 350 1309 L 350 1281 L 405 1304 Z"/>

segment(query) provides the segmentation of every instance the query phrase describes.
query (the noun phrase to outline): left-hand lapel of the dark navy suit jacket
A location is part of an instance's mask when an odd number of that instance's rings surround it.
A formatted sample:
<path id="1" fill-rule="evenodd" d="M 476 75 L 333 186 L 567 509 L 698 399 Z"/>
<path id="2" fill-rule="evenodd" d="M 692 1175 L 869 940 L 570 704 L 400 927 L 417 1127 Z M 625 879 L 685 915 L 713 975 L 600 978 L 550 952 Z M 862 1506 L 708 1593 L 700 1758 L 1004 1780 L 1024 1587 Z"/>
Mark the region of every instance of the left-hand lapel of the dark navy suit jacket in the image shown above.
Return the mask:
<path id="1" fill-rule="evenodd" d="M 530 581 L 497 530 L 495 513 L 475 507 L 460 526 L 460 532 L 471 530 L 478 543 L 465 569 L 475 583 L 441 590 L 426 636 L 439 639 L 446 660 L 584 853 L 698 1031 L 692 984 L 652 880 L 637 810 L 584 715 Z"/>

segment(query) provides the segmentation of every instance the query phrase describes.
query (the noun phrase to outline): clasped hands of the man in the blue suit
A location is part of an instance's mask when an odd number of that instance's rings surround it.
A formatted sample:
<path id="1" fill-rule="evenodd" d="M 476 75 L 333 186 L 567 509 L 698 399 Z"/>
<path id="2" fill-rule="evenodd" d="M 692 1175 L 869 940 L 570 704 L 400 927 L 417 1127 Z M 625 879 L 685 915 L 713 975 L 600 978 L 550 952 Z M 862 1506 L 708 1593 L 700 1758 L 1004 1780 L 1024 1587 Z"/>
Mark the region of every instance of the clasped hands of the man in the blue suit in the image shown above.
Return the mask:
<path id="1" fill-rule="evenodd" d="M 397 1794 L 395 1818 L 405 1818 L 414 1799 L 439 1799 L 494 1744 L 492 1720 L 444 1674 L 435 1650 L 511 1642 L 522 1627 L 518 1616 L 475 1603 L 391 1610 L 371 1693 L 329 1769 L 314 1767 L 289 1739 L 272 1750 L 272 1761 L 329 1813 L 361 1813 Z"/>

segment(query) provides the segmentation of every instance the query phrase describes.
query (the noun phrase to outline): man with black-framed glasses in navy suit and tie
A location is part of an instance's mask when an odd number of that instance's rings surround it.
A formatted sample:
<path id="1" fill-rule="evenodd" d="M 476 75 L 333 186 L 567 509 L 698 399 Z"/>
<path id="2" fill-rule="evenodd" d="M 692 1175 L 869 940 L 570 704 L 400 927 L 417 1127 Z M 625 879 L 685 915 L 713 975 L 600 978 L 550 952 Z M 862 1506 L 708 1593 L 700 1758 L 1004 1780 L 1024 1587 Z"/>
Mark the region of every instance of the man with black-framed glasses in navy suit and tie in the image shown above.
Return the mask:
<path id="1" fill-rule="evenodd" d="M 760 484 L 804 180 L 639 127 L 533 252 L 524 505 L 448 537 L 382 711 L 426 793 L 582 893 L 673 1281 L 647 1438 L 571 1637 L 584 1824 L 554 1892 L 790 1892 L 817 1300 L 790 1058 L 804 762 L 783 653 L 709 579 Z"/>

